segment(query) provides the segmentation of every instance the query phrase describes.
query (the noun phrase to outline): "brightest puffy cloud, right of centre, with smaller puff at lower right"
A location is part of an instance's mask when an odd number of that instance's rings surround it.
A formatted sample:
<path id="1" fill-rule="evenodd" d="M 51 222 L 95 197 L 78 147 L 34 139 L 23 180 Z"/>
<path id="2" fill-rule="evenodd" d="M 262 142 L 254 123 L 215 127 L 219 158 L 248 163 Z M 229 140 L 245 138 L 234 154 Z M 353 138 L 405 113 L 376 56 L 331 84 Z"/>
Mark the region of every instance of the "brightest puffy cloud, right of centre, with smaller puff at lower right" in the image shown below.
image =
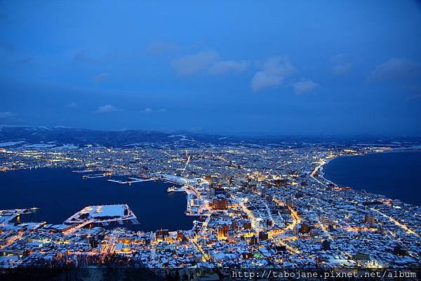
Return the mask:
<path id="1" fill-rule="evenodd" d="M 257 92 L 263 88 L 275 88 L 281 85 L 284 78 L 296 71 L 293 64 L 286 57 L 270 57 L 262 70 L 255 73 L 251 79 L 251 88 Z"/>

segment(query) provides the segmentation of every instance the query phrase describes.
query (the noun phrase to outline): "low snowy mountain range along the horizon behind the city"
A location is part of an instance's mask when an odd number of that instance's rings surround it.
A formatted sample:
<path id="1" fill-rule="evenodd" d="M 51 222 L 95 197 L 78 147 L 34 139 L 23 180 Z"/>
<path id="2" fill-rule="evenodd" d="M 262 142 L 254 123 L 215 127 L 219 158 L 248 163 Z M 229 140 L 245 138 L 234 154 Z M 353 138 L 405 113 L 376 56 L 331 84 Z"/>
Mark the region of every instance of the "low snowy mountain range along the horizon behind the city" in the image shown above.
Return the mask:
<path id="1" fill-rule="evenodd" d="M 358 135 L 353 137 L 323 136 L 265 136 L 265 137 L 232 137 L 222 135 L 205 135 L 188 131 L 173 133 L 152 130 L 89 130 L 68 127 L 30 127 L 0 125 L 0 146 L 18 146 L 27 144 L 44 144 L 58 146 L 142 146 L 142 145 L 176 145 L 201 146 L 210 145 L 243 145 L 243 146 L 303 146 L 308 144 L 420 144 L 420 137 L 379 137 Z"/>

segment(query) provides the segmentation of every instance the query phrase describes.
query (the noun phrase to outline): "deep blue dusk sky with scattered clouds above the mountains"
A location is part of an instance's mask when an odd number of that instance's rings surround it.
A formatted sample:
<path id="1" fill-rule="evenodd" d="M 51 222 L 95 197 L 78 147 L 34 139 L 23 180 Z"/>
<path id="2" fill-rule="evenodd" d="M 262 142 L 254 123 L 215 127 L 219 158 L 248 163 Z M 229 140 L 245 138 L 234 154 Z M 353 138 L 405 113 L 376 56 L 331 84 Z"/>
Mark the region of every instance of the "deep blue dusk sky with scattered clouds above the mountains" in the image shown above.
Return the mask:
<path id="1" fill-rule="evenodd" d="M 0 124 L 421 135 L 417 1 L 110 2 L 0 2 Z"/>

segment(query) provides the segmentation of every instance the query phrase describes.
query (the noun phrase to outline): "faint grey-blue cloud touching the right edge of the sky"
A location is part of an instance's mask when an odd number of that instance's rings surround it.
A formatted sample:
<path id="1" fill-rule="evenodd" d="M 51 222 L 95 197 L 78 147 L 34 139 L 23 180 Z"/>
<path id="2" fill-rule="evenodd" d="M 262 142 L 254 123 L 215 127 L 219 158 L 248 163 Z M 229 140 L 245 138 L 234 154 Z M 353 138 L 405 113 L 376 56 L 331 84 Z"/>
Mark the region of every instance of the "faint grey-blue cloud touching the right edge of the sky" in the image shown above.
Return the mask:
<path id="1" fill-rule="evenodd" d="M 421 74 L 421 64 L 417 64 L 402 57 L 392 57 L 390 60 L 383 62 L 373 70 L 370 80 L 396 80 L 401 78 L 412 78 L 419 74 Z"/>

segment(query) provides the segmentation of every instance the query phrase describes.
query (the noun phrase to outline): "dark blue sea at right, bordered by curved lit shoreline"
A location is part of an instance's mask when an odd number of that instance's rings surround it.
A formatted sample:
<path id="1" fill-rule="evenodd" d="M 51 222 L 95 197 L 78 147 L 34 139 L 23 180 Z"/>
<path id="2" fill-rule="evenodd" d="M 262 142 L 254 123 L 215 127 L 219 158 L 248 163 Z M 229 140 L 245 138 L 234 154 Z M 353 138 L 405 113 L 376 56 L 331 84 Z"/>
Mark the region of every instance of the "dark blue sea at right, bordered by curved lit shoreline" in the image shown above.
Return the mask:
<path id="1" fill-rule="evenodd" d="M 323 172 L 335 184 L 421 205 L 421 151 L 340 157 Z"/>

